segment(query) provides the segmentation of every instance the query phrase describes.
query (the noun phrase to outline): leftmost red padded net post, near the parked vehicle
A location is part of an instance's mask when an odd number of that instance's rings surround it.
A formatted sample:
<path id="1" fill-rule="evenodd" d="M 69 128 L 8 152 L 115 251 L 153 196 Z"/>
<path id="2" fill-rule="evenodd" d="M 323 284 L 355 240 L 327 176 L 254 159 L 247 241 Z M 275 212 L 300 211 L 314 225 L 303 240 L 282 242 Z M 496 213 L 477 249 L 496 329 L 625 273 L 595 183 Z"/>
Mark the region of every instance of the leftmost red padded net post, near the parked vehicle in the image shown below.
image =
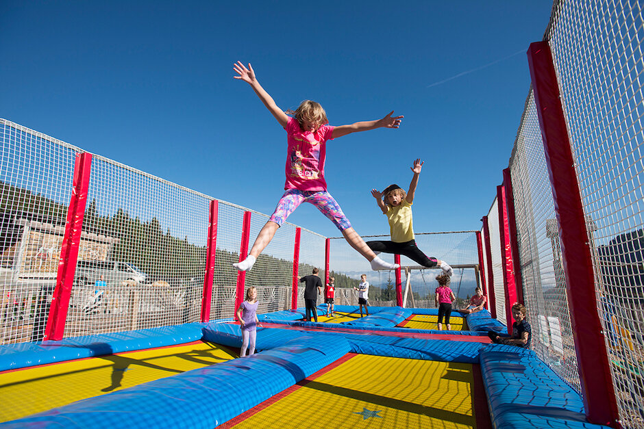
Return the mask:
<path id="1" fill-rule="evenodd" d="M 60 262 L 58 263 L 56 286 L 53 290 L 53 297 L 51 298 L 51 307 L 49 307 L 49 317 L 47 317 L 47 326 L 45 327 L 45 336 L 43 339 L 60 341 L 64 334 L 69 299 L 76 273 L 78 249 L 85 216 L 91 169 L 92 155 L 90 153 L 77 153 L 74 166 L 73 188 L 67 209 L 65 233 L 60 248 Z"/>

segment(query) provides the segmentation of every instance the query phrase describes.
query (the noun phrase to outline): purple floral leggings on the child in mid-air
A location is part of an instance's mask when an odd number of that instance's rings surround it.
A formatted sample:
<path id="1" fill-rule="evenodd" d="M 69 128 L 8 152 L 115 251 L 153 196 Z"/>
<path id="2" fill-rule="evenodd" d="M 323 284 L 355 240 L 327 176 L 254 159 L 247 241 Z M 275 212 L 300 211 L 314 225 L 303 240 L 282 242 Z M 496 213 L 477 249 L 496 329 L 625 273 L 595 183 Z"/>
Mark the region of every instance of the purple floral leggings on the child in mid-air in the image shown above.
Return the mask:
<path id="1" fill-rule="evenodd" d="M 321 211 L 324 216 L 329 218 L 340 231 L 345 231 L 345 229 L 351 228 L 351 222 L 349 222 L 345 213 L 342 212 L 340 205 L 338 205 L 331 194 L 326 191 L 286 190 L 284 195 L 282 195 L 280 202 L 277 203 L 273 216 L 271 216 L 271 219 L 269 220 L 282 226 L 282 224 L 286 222 L 286 218 L 288 218 L 290 213 L 293 213 L 293 211 L 295 211 L 295 209 L 304 202 L 311 203 L 317 207 L 317 209 Z"/>

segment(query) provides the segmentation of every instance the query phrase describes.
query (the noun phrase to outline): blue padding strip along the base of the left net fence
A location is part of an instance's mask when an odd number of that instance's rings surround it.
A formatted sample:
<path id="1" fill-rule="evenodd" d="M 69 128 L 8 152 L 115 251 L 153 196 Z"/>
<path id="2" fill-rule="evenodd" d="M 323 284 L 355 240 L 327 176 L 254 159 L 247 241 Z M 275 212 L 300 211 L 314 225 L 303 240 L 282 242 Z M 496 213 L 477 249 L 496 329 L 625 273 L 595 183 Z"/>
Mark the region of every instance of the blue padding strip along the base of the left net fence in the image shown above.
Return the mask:
<path id="1" fill-rule="evenodd" d="M 6 344 L 0 346 L 0 371 L 189 343 L 201 339 L 202 328 L 201 323 L 187 323 L 121 333 L 87 335 L 61 341 Z"/>

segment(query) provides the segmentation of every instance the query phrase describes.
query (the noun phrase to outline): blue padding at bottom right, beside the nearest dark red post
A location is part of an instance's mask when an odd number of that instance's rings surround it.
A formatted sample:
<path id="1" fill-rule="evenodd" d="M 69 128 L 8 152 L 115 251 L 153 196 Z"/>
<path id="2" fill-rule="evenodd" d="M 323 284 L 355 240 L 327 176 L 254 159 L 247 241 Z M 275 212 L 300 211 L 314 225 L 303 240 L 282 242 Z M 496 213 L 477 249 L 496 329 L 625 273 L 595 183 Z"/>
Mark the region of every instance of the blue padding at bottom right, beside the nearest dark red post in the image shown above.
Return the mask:
<path id="1" fill-rule="evenodd" d="M 586 421 L 580 395 L 532 350 L 488 344 L 479 354 L 496 428 L 602 428 Z"/>

